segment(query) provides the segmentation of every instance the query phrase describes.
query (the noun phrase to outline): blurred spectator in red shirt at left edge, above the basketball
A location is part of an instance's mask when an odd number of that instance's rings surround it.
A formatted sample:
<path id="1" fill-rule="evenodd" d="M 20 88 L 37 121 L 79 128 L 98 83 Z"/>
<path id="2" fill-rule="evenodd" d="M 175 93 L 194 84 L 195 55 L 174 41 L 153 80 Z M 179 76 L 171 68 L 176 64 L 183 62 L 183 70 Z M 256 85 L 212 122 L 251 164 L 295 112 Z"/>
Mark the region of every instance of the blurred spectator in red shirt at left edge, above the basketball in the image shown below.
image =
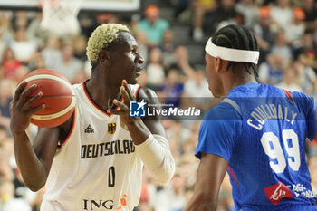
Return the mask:
<path id="1" fill-rule="evenodd" d="M 1 78 L 14 79 L 16 69 L 21 65 L 11 48 L 6 48 L 1 63 Z"/>

